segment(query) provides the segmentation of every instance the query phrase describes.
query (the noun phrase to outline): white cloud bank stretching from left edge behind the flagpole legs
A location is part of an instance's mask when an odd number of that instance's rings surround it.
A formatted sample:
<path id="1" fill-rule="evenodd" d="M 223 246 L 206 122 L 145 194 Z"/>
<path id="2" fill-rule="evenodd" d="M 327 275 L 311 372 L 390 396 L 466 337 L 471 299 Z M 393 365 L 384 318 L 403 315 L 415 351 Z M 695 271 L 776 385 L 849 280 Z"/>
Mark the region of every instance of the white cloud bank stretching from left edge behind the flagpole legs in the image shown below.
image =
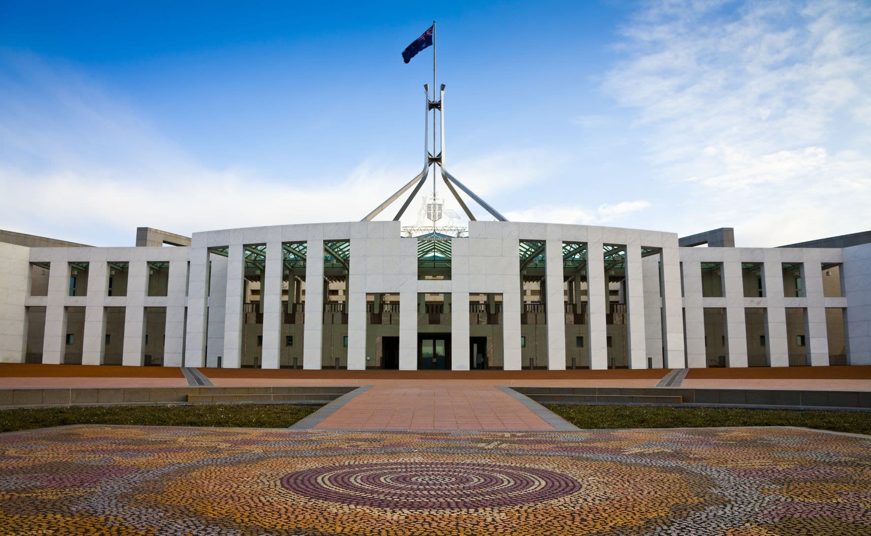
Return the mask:
<path id="1" fill-rule="evenodd" d="M 363 159 L 327 182 L 265 176 L 252 166 L 219 169 L 165 139 L 123 96 L 74 67 L 0 51 L 0 68 L 9 75 L 0 82 L 0 228 L 117 246 L 132 243 L 138 226 L 190 234 L 353 221 L 419 169 Z M 452 170 L 486 199 L 542 180 L 557 161 L 540 150 L 490 153 L 458 161 Z M 440 178 L 438 183 L 447 197 Z M 431 185 L 408 207 L 403 223 L 416 223 Z M 392 218 L 401 202 L 378 219 Z M 462 212 L 450 199 L 446 207 Z"/>

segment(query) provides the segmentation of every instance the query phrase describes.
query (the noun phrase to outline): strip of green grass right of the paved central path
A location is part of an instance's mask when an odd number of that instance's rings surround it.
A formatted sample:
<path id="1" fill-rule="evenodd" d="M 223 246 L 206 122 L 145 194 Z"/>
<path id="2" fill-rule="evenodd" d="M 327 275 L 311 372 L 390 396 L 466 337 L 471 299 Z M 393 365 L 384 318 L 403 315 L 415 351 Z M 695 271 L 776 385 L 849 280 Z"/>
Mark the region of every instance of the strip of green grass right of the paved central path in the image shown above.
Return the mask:
<path id="1" fill-rule="evenodd" d="M 860 411 L 741 410 L 670 406 L 544 404 L 578 428 L 699 428 L 806 426 L 871 434 L 871 413 Z"/>

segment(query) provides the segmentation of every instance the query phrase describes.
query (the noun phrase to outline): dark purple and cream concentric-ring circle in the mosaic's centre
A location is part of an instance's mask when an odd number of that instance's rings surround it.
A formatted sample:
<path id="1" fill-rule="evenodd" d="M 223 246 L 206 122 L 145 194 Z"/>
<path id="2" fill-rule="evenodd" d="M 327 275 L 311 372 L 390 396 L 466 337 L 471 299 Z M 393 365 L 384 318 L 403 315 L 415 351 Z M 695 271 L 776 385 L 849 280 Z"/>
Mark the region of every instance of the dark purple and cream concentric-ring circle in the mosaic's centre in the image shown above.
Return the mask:
<path id="1" fill-rule="evenodd" d="M 544 469 L 445 462 L 328 465 L 290 473 L 281 485 L 313 499 L 402 510 L 517 506 L 581 489 Z"/>

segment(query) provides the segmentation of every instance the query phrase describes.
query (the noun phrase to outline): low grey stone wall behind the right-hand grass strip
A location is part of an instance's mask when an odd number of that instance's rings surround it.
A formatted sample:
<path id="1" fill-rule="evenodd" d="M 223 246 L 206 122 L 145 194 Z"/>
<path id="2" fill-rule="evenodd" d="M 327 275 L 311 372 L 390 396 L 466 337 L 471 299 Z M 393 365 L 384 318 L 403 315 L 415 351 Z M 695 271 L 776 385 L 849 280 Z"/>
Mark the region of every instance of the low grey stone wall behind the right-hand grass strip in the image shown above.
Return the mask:
<path id="1" fill-rule="evenodd" d="M 682 397 L 682 404 L 766 406 L 790 408 L 843 408 L 871 410 L 871 391 L 767 390 L 767 389 L 675 389 L 629 387 L 512 387 L 546 404 L 571 403 L 571 397 Z M 665 401 L 664 401 L 665 402 Z M 680 404 L 672 404 L 680 405 Z"/>

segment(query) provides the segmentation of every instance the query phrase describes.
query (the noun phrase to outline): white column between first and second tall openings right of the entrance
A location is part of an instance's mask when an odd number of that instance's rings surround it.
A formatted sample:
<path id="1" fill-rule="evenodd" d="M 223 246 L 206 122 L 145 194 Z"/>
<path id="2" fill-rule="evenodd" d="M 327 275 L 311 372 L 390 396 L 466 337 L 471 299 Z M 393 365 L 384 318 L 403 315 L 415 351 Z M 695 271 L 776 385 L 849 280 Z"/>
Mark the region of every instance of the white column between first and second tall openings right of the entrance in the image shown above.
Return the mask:
<path id="1" fill-rule="evenodd" d="M 547 368 L 565 370 L 563 241 L 544 241 L 544 291 L 547 293 Z"/>

